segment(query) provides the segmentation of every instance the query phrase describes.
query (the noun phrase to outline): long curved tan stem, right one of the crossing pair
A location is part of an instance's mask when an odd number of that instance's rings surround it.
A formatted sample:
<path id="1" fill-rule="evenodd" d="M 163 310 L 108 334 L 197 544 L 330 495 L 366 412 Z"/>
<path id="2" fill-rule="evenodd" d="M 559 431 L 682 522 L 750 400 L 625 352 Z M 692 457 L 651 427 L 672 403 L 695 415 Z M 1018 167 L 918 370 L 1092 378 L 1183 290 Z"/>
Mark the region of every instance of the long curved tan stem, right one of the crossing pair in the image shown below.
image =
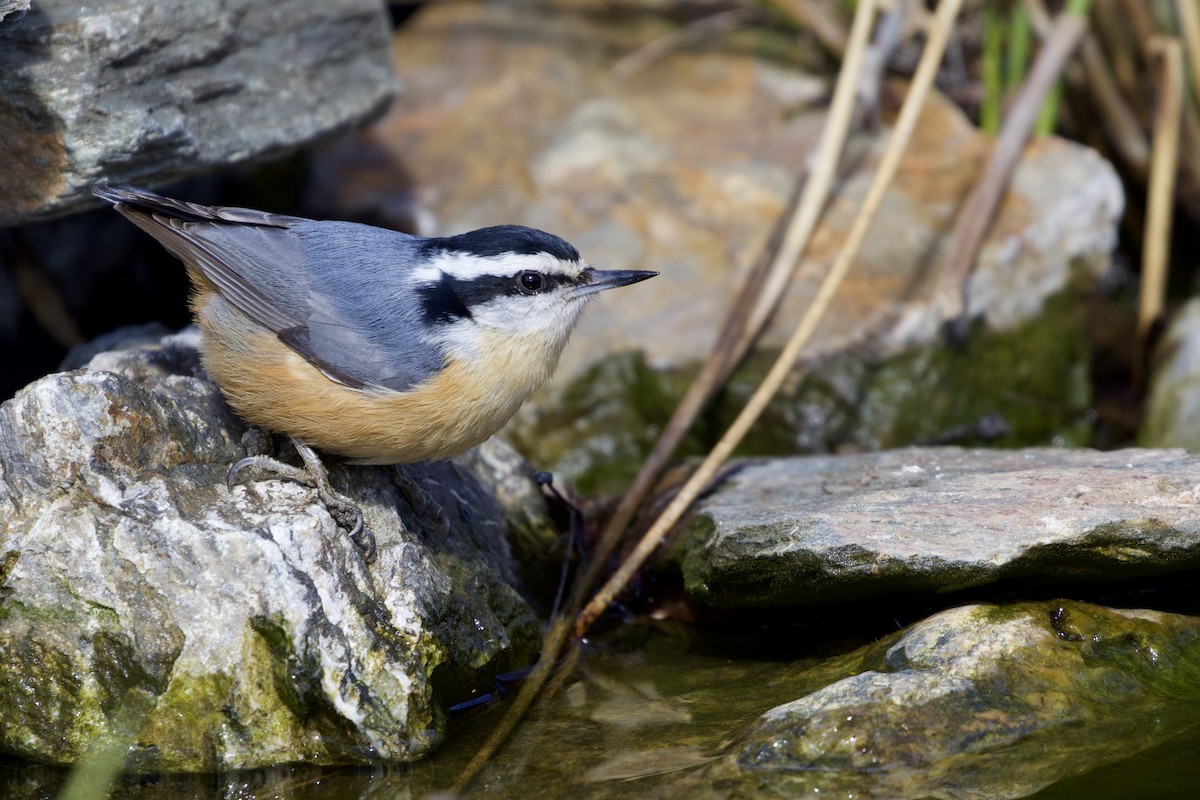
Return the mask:
<path id="1" fill-rule="evenodd" d="M 941 0 L 937 5 L 934 25 L 930 28 L 928 40 L 925 42 L 925 50 L 922 53 L 920 64 L 917 66 L 912 85 L 908 89 L 908 96 L 905 98 L 904 108 L 901 108 L 900 116 L 896 120 L 895 131 L 892 134 L 890 142 L 888 142 L 887 151 L 880 160 L 880 167 L 875 174 L 875 180 L 871 182 L 871 187 L 868 190 L 866 197 L 863 200 L 863 206 L 859 210 L 858 216 L 854 218 L 854 223 L 846 236 L 845 246 L 838 254 L 838 259 L 829 269 L 828 275 L 826 275 L 824 281 L 821 283 L 821 288 L 817 289 L 817 294 L 812 299 L 812 305 L 809 307 L 808 313 L 805 313 L 804 318 L 800 320 L 799 326 L 787 341 L 787 344 L 784 347 L 782 353 L 780 353 L 779 359 L 776 359 L 775 363 L 772 366 L 767 378 L 763 380 L 762 385 L 758 386 L 758 390 L 750 398 L 750 402 L 746 403 L 746 407 L 742 410 L 742 414 L 738 415 L 738 419 L 733 421 L 733 425 L 730 426 L 730 429 L 726 431 L 724 437 L 721 437 L 721 440 L 716 443 L 716 446 L 708 455 L 704 462 L 692 474 L 683 488 L 679 489 L 679 494 L 676 495 L 674 500 L 671 501 L 662 515 L 654 522 L 650 529 L 637 543 L 637 547 L 634 548 L 634 552 L 629 554 L 620 567 L 612 575 L 612 577 L 608 578 L 587 607 L 584 607 L 584 609 L 580 613 L 575 621 L 576 637 L 582 637 L 588 631 L 595 619 L 625 587 L 650 553 L 654 552 L 654 549 L 662 541 L 662 537 L 666 536 L 667 531 L 671 530 L 671 527 L 674 525 L 679 517 L 683 516 L 684 511 L 686 511 L 688 506 L 691 505 L 691 503 L 700 494 L 701 489 L 713 477 L 721 463 L 730 457 L 733 449 L 739 441 L 742 441 L 746 431 L 749 431 L 750 426 L 755 423 L 758 415 L 762 414 L 762 410 L 767 407 L 772 396 L 774 396 L 774 393 L 782 385 L 784 380 L 787 378 L 787 374 L 794 368 L 800 348 L 803 348 L 812 336 L 817 323 L 829 307 L 829 302 L 833 300 L 834 293 L 838 290 L 842 278 L 846 276 L 850 265 L 853 263 L 854 258 L 857 258 L 858 251 L 866 235 L 866 230 L 870 227 L 871 221 L 875 218 L 875 213 L 878 211 L 888 185 L 895 175 L 896 168 L 900 164 L 900 157 L 904 155 L 904 150 L 912 137 L 912 131 L 917 125 L 920 108 L 924 106 L 925 97 L 929 95 L 929 90 L 934 83 L 934 77 L 937 73 L 937 66 L 942 60 L 942 54 L 946 50 L 946 44 L 949 41 L 950 32 L 954 28 L 954 19 L 958 16 L 961 5 L 962 0 Z"/>

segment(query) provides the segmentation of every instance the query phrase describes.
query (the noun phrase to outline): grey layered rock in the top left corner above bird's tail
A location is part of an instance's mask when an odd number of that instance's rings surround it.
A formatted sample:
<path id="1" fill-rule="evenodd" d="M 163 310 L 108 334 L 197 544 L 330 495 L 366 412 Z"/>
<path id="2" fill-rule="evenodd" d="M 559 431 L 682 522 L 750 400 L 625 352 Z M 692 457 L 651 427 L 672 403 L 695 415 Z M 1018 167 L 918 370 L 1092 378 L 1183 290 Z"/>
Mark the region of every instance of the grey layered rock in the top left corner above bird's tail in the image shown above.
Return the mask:
<path id="1" fill-rule="evenodd" d="M 0 224 L 286 154 L 394 83 L 378 0 L 41 0 L 0 47 Z"/>

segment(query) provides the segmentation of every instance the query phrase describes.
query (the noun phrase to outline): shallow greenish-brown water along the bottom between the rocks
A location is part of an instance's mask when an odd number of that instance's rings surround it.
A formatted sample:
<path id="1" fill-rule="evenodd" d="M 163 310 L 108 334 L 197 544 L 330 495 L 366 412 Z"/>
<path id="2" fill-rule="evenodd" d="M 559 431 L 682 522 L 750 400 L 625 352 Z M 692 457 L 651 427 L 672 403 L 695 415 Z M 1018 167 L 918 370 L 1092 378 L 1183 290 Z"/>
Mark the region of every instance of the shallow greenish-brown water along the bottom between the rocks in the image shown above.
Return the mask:
<path id="1" fill-rule="evenodd" d="M 858 644 L 862 642 L 827 644 L 822 656 Z M 805 686 L 804 668 L 823 660 L 809 657 L 785 664 L 709 655 L 694 645 L 695 640 L 689 644 L 678 636 L 649 632 L 636 649 L 593 650 L 559 694 L 534 709 L 463 796 L 624 799 L 692 796 L 696 790 L 713 798 L 751 796 L 744 786 L 728 792 L 713 787 L 700 771 L 761 712 L 816 688 L 822 670 Z M 446 745 L 412 766 L 277 768 L 222 776 L 125 778 L 114 787 L 113 796 L 426 798 L 452 784 L 504 709 L 500 703 L 455 720 Z M 1188 712 L 1200 722 L 1196 710 Z M 1062 780 L 1032 796 L 1195 796 L 1200 788 L 1200 726 L 1138 752 L 1141 746 L 1144 742 L 1132 736 L 1128 758 Z M 0 764 L 0 798 L 55 798 L 66 775 L 64 770 Z M 97 788 L 90 796 L 103 796 L 103 790 Z"/>

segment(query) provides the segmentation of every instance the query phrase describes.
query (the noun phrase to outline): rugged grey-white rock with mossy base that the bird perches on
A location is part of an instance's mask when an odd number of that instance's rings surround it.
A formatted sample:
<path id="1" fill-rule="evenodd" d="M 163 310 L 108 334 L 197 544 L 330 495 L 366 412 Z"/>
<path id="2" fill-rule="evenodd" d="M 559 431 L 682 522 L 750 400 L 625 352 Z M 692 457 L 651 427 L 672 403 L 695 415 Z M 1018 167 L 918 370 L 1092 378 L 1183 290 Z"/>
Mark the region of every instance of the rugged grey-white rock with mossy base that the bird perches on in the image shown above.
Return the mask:
<path id="1" fill-rule="evenodd" d="M 416 497 L 334 464 L 378 537 L 366 565 L 312 489 L 228 491 L 244 425 L 196 343 L 101 353 L 0 405 L 0 751 L 70 763 L 113 726 L 144 770 L 420 756 L 439 705 L 536 646 L 500 509 L 452 462 L 406 468 Z"/>

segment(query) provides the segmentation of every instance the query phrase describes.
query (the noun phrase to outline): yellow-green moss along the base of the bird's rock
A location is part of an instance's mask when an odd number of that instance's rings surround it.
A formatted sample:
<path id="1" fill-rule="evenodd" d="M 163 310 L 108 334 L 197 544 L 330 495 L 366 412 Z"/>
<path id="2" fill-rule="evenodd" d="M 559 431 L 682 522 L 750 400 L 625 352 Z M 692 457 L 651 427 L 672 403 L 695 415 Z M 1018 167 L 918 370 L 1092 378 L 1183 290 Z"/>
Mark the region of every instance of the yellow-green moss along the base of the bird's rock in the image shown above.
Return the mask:
<path id="1" fill-rule="evenodd" d="M 60 637 L 46 631 L 62 628 L 41 626 L 34 636 L 35 616 L 10 616 L 0 628 L 0 750 L 8 754 L 71 764 L 112 739 L 127 745 L 131 771 L 370 759 L 361 733 L 324 697 L 319 664 L 294 651 L 280 619 L 247 627 L 236 674 L 176 662 L 156 676 L 121 634 Z"/>

